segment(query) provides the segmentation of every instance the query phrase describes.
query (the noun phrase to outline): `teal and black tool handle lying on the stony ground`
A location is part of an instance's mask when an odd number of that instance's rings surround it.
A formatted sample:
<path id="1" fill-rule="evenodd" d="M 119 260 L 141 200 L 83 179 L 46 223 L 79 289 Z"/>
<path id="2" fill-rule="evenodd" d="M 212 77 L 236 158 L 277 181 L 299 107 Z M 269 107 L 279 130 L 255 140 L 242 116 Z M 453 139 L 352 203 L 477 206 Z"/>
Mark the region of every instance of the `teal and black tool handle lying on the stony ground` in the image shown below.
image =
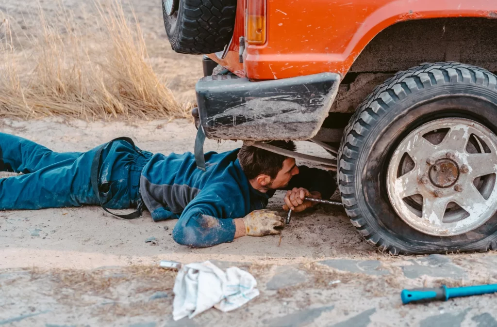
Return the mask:
<path id="1" fill-rule="evenodd" d="M 447 301 L 450 298 L 481 295 L 497 292 L 497 284 L 477 285 L 466 287 L 448 288 L 443 285 L 440 288 L 419 288 L 413 290 L 403 290 L 401 293 L 402 303 L 427 302 L 427 301 Z"/>

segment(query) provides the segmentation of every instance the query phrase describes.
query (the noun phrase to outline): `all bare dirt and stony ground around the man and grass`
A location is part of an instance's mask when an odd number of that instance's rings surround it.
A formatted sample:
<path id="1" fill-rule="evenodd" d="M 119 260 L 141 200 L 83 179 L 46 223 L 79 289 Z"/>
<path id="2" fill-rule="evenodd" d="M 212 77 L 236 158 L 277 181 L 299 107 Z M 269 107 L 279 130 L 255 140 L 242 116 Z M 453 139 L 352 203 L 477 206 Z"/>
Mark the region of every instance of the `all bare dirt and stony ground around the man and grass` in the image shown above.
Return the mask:
<path id="1" fill-rule="evenodd" d="M 19 6 L 5 0 L 0 10 L 29 30 L 36 21 L 22 17 L 38 3 L 53 12 L 55 2 L 29 0 Z M 81 4 L 63 2 L 69 8 Z M 130 2 L 154 69 L 166 76 L 177 97 L 193 97 L 201 57 L 170 50 L 160 1 Z M 55 151 L 85 151 L 126 135 L 142 149 L 167 154 L 193 150 L 195 137 L 191 123 L 181 120 L 3 119 L 0 131 Z M 237 146 L 207 141 L 205 150 Z M 326 155 L 307 142 L 298 146 Z M 269 208 L 281 210 L 281 205 L 280 193 Z M 496 283 L 494 253 L 390 257 L 365 242 L 344 212 L 331 206 L 295 214 L 281 238 L 244 237 L 206 249 L 175 244 L 170 235 L 175 222 L 155 223 L 148 212 L 124 221 L 98 207 L 0 212 L 0 326 L 497 326 L 495 295 L 407 306 L 400 299 L 403 288 Z M 145 243 L 149 237 L 156 237 L 157 245 Z M 175 272 L 158 268 L 160 260 L 242 267 L 255 276 L 261 294 L 230 313 L 211 309 L 173 322 Z"/>

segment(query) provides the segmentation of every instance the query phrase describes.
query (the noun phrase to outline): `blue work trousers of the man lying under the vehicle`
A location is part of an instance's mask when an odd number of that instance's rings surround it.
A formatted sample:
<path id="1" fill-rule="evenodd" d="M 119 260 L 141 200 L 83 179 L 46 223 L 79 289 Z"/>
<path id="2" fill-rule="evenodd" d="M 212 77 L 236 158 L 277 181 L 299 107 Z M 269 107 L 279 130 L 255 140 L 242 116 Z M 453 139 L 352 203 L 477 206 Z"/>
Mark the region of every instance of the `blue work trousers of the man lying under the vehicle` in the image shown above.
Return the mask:
<path id="1" fill-rule="evenodd" d="M 35 210 L 100 204 L 90 184 L 98 147 L 87 152 L 57 153 L 22 137 L 0 133 L 0 171 L 25 175 L 0 179 L 0 210 Z M 136 207 L 140 174 L 152 153 L 125 141 L 102 151 L 99 189 L 110 209 Z"/>

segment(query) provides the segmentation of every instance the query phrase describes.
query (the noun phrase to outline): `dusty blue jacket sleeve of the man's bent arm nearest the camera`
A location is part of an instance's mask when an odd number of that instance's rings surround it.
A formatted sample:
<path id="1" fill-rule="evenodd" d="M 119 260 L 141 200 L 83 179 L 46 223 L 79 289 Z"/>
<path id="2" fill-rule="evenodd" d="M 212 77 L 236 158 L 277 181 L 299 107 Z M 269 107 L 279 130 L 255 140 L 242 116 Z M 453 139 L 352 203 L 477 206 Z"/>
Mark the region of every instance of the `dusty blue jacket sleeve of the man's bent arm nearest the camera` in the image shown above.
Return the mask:
<path id="1" fill-rule="evenodd" d="M 234 218 L 237 213 L 241 214 L 238 207 L 244 205 L 243 199 L 222 198 L 220 185 L 213 185 L 202 189 L 200 193 L 185 207 L 179 217 L 172 237 L 174 241 L 181 245 L 205 248 L 213 245 L 231 242 L 235 237 Z M 235 195 L 237 192 L 234 193 Z"/>

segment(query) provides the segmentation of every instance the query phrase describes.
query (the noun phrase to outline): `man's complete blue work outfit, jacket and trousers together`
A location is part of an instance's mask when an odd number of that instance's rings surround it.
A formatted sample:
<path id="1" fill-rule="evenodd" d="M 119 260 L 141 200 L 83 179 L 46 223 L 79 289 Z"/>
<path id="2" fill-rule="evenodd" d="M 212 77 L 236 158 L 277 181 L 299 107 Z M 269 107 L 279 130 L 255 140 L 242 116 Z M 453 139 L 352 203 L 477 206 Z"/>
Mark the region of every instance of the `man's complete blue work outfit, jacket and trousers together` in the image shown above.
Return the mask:
<path id="1" fill-rule="evenodd" d="M 26 175 L 0 179 L 0 210 L 99 204 L 90 183 L 90 166 L 98 149 L 55 153 L 29 140 L 0 133 L 0 170 Z M 263 209 L 274 191 L 253 189 L 237 159 L 238 149 L 205 154 L 206 171 L 196 168 L 192 153 L 155 154 L 125 141 L 105 146 L 99 190 L 107 208 L 135 207 L 143 199 L 154 221 L 179 219 L 173 239 L 182 245 L 208 247 L 231 242 L 234 218 Z M 331 175 L 299 167 L 287 189 L 303 187 L 330 198 Z"/>

